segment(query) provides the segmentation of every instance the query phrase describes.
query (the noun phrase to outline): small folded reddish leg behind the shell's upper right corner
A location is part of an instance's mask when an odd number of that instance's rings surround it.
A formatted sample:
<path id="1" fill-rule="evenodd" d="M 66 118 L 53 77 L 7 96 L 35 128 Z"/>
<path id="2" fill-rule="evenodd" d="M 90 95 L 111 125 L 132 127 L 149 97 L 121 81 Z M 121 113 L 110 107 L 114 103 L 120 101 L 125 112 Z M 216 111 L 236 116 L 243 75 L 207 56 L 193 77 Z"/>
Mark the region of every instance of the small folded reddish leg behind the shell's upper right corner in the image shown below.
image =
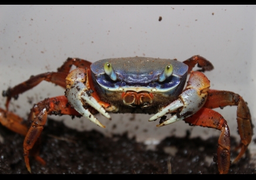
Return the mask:
<path id="1" fill-rule="evenodd" d="M 211 64 L 210 61 L 208 61 L 206 58 L 201 57 L 201 56 L 192 56 L 188 58 L 186 61 L 183 61 L 184 64 L 188 65 L 188 73 L 195 67 L 196 64 L 197 66 L 202 68 L 199 71 L 211 71 L 213 70 L 213 64 Z"/>

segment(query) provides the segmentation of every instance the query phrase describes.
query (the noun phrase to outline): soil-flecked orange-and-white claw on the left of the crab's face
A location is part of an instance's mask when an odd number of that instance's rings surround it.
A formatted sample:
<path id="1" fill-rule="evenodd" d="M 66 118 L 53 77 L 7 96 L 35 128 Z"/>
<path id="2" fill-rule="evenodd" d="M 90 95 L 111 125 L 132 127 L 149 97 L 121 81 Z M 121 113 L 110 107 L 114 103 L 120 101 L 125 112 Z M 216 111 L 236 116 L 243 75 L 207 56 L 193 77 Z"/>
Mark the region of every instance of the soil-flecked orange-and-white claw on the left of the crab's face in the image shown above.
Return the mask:
<path id="1" fill-rule="evenodd" d="M 76 68 L 71 71 L 66 77 L 66 91 L 65 95 L 68 98 L 69 103 L 80 113 L 85 116 L 91 122 L 96 123 L 100 127 L 105 127 L 97 120 L 95 116 L 88 110 L 89 106 L 95 108 L 100 114 L 111 119 L 109 113 L 96 101 L 91 95 L 92 89 L 89 86 L 89 78 L 86 69 Z"/>

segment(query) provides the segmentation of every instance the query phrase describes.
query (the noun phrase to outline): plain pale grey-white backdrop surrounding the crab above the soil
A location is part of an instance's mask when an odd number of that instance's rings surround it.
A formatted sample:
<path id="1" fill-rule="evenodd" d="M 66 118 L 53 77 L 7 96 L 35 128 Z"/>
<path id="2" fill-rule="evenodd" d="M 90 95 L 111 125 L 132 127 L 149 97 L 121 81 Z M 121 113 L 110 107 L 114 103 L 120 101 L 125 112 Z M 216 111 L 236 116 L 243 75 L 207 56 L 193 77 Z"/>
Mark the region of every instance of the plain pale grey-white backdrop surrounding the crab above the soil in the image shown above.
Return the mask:
<path id="1" fill-rule="evenodd" d="M 31 75 L 56 71 L 67 57 L 92 62 L 132 56 L 184 61 L 200 54 L 214 65 L 213 71 L 205 73 L 211 88 L 240 94 L 248 102 L 255 124 L 255 18 L 255 5 L 1 5 L 0 91 Z M 29 100 L 36 103 L 63 94 L 62 88 L 42 82 L 12 101 L 10 109 L 26 118 L 32 108 Z M 4 103 L 5 98 L 0 97 L 0 108 Z M 236 109 L 217 111 L 228 121 L 231 136 L 239 137 Z M 70 127 L 97 129 L 107 136 L 128 131 L 130 137 L 148 144 L 170 135 L 184 136 L 186 129 L 191 130 L 191 137 L 204 139 L 220 134 L 215 129 L 190 127 L 183 121 L 156 127 L 158 122 L 147 121 L 149 115 L 112 115 L 111 122 L 98 115 L 106 129 L 85 118 L 52 117 Z M 255 152 L 253 145 L 251 152 Z"/>

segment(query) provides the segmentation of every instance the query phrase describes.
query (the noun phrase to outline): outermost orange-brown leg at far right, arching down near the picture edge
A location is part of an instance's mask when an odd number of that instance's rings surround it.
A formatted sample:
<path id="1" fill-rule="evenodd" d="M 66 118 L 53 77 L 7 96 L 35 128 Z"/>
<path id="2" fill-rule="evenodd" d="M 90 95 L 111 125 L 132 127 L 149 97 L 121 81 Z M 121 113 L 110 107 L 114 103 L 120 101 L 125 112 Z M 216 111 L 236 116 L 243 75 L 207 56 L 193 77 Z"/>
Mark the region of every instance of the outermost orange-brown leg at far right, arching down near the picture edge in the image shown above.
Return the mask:
<path id="1" fill-rule="evenodd" d="M 223 108 L 224 106 L 237 106 L 237 124 L 238 131 L 241 137 L 240 153 L 237 155 L 234 163 L 240 160 L 242 155 L 247 150 L 252 139 L 252 126 L 250 110 L 244 99 L 238 94 L 230 91 L 212 90 L 208 92 L 208 98 L 204 107 L 206 108 Z"/>

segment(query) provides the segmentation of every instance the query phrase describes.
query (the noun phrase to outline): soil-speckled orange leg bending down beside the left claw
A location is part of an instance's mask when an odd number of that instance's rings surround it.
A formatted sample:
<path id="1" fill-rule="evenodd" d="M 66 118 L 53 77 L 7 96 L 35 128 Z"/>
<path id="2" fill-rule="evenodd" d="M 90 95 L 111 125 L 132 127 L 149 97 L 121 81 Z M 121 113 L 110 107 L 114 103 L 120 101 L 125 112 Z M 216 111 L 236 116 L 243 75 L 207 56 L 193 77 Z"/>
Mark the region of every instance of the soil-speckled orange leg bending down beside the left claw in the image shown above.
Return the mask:
<path id="1" fill-rule="evenodd" d="M 90 110 L 92 113 L 97 113 L 96 110 Z M 80 114 L 70 106 L 68 99 L 65 96 L 48 98 L 33 106 L 29 115 L 29 120 L 32 121 L 32 124 L 28 130 L 28 133 L 26 134 L 23 143 L 25 164 L 29 172 L 31 172 L 29 165 L 29 153 L 35 145 L 36 141 L 38 141 L 39 137 L 41 136 L 43 126 L 47 120 L 47 116 L 52 114 L 80 116 Z M 45 164 L 45 161 L 39 157 L 38 153 L 33 152 L 33 156 L 35 156 L 36 160 L 40 161 L 42 164 Z"/>

